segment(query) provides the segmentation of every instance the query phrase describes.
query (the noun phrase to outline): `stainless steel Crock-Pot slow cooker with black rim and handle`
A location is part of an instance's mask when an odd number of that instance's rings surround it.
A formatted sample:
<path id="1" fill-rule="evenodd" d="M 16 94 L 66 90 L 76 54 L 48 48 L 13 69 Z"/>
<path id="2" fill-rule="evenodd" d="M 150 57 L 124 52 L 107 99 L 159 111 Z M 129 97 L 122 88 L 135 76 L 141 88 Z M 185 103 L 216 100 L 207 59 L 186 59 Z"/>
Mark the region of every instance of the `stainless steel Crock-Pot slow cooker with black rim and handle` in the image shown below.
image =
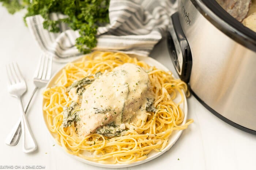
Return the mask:
<path id="1" fill-rule="evenodd" d="M 168 47 L 180 78 L 213 114 L 256 134 L 256 33 L 215 0 L 177 0 Z"/>

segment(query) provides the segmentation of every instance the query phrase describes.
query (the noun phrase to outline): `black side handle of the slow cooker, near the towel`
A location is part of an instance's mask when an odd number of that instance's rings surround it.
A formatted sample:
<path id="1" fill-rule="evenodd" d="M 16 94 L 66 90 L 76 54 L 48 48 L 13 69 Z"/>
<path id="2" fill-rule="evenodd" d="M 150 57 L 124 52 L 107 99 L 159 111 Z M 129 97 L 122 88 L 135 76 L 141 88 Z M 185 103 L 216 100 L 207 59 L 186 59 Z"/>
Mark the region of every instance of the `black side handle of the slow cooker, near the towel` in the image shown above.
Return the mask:
<path id="1" fill-rule="evenodd" d="M 172 25 L 167 32 L 168 51 L 180 79 L 188 83 L 192 69 L 192 54 L 182 30 L 178 12 L 171 16 Z"/>

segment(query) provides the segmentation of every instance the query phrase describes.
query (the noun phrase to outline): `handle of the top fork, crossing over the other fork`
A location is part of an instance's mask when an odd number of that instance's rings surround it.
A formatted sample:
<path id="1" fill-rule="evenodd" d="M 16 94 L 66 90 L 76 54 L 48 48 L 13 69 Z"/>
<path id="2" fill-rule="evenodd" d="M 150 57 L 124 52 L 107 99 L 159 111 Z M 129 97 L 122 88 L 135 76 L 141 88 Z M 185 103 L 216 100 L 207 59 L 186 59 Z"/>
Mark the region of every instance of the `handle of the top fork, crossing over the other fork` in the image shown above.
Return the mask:
<path id="1" fill-rule="evenodd" d="M 37 143 L 35 142 L 35 138 L 30 129 L 29 123 L 27 122 L 27 118 L 23 109 L 21 96 L 19 96 L 18 99 L 20 104 L 21 129 L 24 134 L 23 152 L 30 153 L 37 149 Z"/>

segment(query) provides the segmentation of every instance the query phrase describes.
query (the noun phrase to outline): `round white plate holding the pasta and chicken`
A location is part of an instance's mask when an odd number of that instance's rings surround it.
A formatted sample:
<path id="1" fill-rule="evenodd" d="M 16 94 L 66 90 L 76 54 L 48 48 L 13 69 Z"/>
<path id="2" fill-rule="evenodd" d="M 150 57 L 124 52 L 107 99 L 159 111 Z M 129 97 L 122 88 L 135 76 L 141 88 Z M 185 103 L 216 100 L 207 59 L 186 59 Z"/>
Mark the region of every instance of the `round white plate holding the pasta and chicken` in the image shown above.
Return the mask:
<path id="1" fill-rule="evenodd" d="M 163 66 L 161 63 L 159 63 L 157 60 L 154 60 L 153 58 L 150 58 L 150 57 L 143 57 L 143 56 L 137 56 L 137 55 L 129 55 L 131 57 L 136 57 L 138 58 L 138 60 L 142 60 L 144 62 L 146 62 L 147 64 L 149 64 L 150 66 L 155 66 L 156 68 L 158 69 L 161 69 L 161 70 L 164 70 L 164 71 L 169 71 L 165 66 Z M 75 61 L 73 62 L 77 62 L 79 60 L 81 60 L 82 57 L 80 59 L 76 59 Z M 63 67 L 64 68 L 64 67 Z M 48 84 L 46 85 L 46 88 L 48 87 L 53 87 L 54 86 L 54 82 L 55 80 L 60 76 L 61 74 L 61 70 L 63 70 L 63 68 L 61 68 L 56 74 L 53 75 L 53 77 L 50 79 L 50 81 L 48 82 Z M 184 94 L 184 92 L 183 92 Z M 185 95 L 185 94 L 184 94 Z M 176 99 L 174 101 L 180 101 L 181 99 L 181 95 L 177 95 Z M 43 100 L 43 103 L 45 102 L 45 99 Z M 182 122 L 182 124 L 184 124 L 187 120 L 187 112 L 188 112 L 188 108 L 187 108 L 187 99 L 184 98 L 184 102 L 180 104 L 180 108 L 181 110 L 184 112 L 184 120 Z M 48 124 L 46 123 L 47 122 L 47 119 L 46 119 L 46 114 L 45 112 L 43 111 L 43 117 L 44 117 L 44 120 L 45 120 L 45 124 L 48 128 L 48 131 L 49 131 L 49 127 L 48 127 Z M 50 135 L 52 136 L 53 140 L 54 140 L 54 136 L 56 136 L 56 134 L 50 132 Z M 75 156 L 75 155 L 71 155 L 71 154 L 68 154 L 70 155 L 71 157 L 81 161 L 81 162 L 84 162 L 84 163 L 87 163 L 89 165 L 94 165 L 94 166 L 99 166 L 99 167 L 108 167 L 108 168 L 123 168 L 123 167 L 130 167 L 130 166 L 135 166 L 135 165 L 139 165 L 139 164 L 142 164 L 142 163 L 145 163 L 145 162 L 148 162 L 148 161 L 151 161 L 152 159 L 155 159 L 157 157 L 159 157 L 160 155 L 162 155 L 163 153 L 165 153 L 166 151 L 168 151 L 173 145 L 174 143 L 178 140 L 178 138 L 180 137 L 182 133 L 182 130 L 179 130 L 179 131 L 173 131 L 172 135 L 169 137 L 169 143 L 168 145 L 165 147 L 165 149 L 163 149 L 161 152 L 155 152 L 155 151 L 151 151 L 150 154 L 148 154 L 148 157 L 146 159 L 144 159 L 143 161 L 138 161 L 138 162 L 133 162 L 133 163 L 129 163 L 129 164 L 103 164 L 103 163 L 97 163 L 97 162 L 93 162 L 93 161 L 88 161 L 86 159 L 83 159 L 83 158 L 80 158 L 78 156 Z M 61 147 L 60 147 L 61 148 Z M 63 150 L 64 151 L 64 150 Z M 65 151 L 64 151 L 65 152 Z M 66 152 L 65 152 L 66 153 Z M 88 155 L 91 155 L 91 154 L 88 154 Z"/>

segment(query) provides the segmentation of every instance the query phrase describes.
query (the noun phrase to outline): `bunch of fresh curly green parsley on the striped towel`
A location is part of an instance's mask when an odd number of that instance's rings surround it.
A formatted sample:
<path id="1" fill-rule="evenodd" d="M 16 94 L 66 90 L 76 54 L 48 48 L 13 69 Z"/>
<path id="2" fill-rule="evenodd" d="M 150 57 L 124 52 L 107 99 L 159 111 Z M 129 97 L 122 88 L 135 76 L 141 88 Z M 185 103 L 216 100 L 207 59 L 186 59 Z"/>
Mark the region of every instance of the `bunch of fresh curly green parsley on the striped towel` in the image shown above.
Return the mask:
<path id="1" fill-rule="evenodd" d="M 74 30 L 79 29 L 80 37 L 76 47 L 84 54 L 97 45 L 97 28 L 109 23 L 109 0 L 0 0 L 10 13 L 27 8 L 24 20 L 28 16 L 41 15 L 44 28 L 59 32 L 59 23 L 67 23 Z M 67 15 L 65 19 L 51 20 L 50 13 Z"/>

